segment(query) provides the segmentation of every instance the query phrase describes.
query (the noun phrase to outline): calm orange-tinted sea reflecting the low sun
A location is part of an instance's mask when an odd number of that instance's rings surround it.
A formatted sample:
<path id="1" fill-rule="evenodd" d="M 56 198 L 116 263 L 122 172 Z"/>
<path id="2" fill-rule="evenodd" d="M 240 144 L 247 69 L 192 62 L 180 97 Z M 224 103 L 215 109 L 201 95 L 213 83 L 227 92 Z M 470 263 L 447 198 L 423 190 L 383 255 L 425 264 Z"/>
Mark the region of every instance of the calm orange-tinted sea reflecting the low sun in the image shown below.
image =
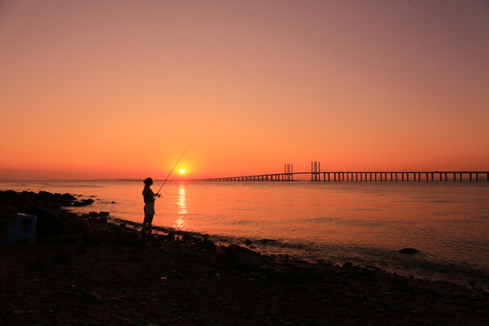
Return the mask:
<path id="1" fill-rule="evenodd" d="M 0 189 L 35 191 L 43 184 L 0 181 Z M 142 222 L 142 188 L 141 181 L 53 181 L 43 190 L 96 200 L 81 212 Z M 154 225 L 215 241 L 251 239 L 269 254 L 489 285 L 487 181 L 168 182 L 162 194 Z M 420 252 L 398 253 L 406 247 Z"/>

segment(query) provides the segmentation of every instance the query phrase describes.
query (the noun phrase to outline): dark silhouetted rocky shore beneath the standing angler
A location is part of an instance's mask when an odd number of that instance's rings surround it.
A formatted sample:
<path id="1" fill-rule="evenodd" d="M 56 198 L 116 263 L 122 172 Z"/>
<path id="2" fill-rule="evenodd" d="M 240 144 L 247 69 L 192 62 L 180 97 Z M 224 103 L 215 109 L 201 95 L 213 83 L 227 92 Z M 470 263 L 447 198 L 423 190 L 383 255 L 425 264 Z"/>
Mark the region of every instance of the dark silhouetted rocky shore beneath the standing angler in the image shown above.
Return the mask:
<path id="1" fill-rule="evenodd" d="M 65 194 L 0 192 L 0 325 L 488 325 L 489 293 L 352 264 L 142 237 Z M 17 213 L 33 245 L 7 244 Z M 102 215 L 107 215 L 104 213 Z"/>

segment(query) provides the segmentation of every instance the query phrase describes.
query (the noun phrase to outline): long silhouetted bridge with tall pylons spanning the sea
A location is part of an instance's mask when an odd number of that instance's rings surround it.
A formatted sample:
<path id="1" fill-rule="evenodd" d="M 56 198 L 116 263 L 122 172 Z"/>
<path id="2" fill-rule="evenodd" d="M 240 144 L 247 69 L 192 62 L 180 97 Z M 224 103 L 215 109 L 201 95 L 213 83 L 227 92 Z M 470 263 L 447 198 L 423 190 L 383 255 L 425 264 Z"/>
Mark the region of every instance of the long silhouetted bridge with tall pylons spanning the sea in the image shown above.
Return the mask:
<path id="1" fill-rule="evenodd" d="M 312 162 L 311 171 L 293 172 L 284 164 L 282 173 L 239 177 L 209 177 L 203 181 L 293 181 L 307 176 L 311 181 L 489 181 L 489 171 L 321 171 L 320 162 Z"/>

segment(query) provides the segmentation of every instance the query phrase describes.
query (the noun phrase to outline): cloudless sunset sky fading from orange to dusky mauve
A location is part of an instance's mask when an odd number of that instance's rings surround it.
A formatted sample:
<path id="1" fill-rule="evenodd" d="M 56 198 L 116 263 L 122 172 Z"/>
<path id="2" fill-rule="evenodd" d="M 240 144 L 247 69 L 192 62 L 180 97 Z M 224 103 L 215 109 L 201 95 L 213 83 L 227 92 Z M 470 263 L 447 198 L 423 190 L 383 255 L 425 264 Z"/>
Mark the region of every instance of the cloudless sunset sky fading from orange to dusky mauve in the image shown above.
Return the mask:
<path id="1" fill-rule="evenodd" d="M 0 179 L 489 170 L 487 0 L 0 0 Z"/>

